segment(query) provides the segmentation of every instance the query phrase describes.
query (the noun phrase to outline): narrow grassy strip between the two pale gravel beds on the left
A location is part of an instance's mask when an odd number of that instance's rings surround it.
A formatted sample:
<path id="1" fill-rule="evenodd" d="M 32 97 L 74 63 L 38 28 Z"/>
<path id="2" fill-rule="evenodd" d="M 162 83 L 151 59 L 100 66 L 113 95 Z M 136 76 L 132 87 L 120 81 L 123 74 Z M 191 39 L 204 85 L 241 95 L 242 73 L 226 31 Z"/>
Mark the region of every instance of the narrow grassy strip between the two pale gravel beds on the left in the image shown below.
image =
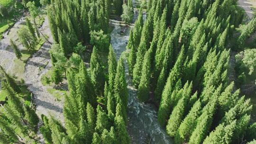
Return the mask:
<path id="1" fill-rule="evenodd" d="M 40 40 L 38 45 L 36 46 L 35 50 L 32 52 L 29 52 L 27 49 L 23 49 L 21 51 L 22 57 L 21 60 L 15 59 L 14 60 L 14 69 L 12 70 L 12 74 L 17 76 L 18 79 L 23 79 L 23 73 L 25 70 L 25 65 L 27 63 L 27 60 L 30 58 L 30 56 L 37 52 L 37 50 L 40 49 L 40 47 L 45 43 L 45 40 Z"/>

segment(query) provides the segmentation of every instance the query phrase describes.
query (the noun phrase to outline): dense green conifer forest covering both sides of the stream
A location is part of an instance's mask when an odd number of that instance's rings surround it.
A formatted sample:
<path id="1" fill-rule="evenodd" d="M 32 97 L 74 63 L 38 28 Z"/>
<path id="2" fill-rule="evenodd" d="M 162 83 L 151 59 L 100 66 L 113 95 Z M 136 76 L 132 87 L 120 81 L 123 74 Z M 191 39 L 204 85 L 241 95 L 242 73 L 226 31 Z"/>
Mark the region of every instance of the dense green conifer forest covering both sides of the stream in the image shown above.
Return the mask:
<path id="1" fill-rule="evenodd" d="M 20 83 L 0 66 L 8 98 L 0 113 L 1 144 L 24 144 L 38 132 L 46 144 L 131 144 L 127 66 L 137 98 L 157 106 L 155 123 L 175 144 L 255 142 L 253 106 L 229 79 L 231 51 L 242 49 L 256 31 L 253 18 L 237 34 L 244 18 L 237 0 L 141 0 L 140 6 L 133 0 L 32 1 L 22 0 L 31 18 L 18 30 L 18 39 L 33 52 L 46 38 L 36 22 L 42 4 L 54 40 L 47 40 L 52 73 L 42 80 L 67 83 L 64 123 L 54 116 L 39 118 L 32 102 L 28 106 L 19 96 Z M 127 51 L 118 58 L 111 19 L 124 21 L 125 27 L 135 19 Z M 10 46 L 21 60 L 17 44 L 10 40 Z M 253 49 L 236 55 L 239 80 L 255 72 L 255 54 Z"/>

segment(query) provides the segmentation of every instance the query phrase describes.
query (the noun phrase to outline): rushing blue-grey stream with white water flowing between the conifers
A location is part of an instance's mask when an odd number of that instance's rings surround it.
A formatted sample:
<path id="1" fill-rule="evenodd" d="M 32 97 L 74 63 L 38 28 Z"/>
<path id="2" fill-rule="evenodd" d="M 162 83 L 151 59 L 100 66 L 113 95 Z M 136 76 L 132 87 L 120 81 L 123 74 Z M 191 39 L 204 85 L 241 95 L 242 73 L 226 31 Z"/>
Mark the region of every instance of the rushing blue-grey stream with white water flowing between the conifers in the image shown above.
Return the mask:
<path id="1" fill-rule="evenodd" d="M 119 21 L 111 20 L 114 27 L 111 32 L 111 45 L 117 55 L 117 59 L 126 51 L 129 39 L 130 27 L 125 27 Z M 121 31 L 126 32 L 121 34 Z M 157 120 L 157 108 L 152 104 L 141 103 L 137 99 L 137 90 L 132 86 L 131 77 L 128 75 L 128 64 L 126 65 L 126 78 L 128 84 L 128 133 L 132 144 L 173 144 L 173 140 L 161 127 Z"/>

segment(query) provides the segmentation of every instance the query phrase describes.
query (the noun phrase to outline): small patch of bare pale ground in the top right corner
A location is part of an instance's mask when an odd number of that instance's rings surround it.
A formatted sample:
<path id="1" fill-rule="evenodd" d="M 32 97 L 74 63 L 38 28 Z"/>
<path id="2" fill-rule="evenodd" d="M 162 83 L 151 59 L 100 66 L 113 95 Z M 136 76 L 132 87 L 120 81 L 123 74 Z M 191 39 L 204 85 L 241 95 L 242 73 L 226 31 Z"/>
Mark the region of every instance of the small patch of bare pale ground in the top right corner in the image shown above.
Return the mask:
<path id="1" fill-rule="evenodd" d="M 248 17 L 250 19 L 253 18 L 253 10 L 252 7 L 256 6 L 256 1 L 255 0 L 238 0 L 238 4 L 240 7 L 245 9 Z"/>

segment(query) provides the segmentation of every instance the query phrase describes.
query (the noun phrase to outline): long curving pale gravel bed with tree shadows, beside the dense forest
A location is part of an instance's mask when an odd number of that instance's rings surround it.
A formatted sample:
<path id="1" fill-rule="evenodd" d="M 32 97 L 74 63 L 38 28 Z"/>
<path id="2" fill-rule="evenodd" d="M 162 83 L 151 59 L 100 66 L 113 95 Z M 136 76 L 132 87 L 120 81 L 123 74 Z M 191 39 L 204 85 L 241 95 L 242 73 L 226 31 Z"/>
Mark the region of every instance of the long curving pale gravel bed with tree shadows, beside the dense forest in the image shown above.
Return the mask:
<path id="1" fill-rule="evenodd" d="M 49 36 L 49 41 L 53 43 L 48 18 L 45 19 L 40 30 L 45 36 Z M 55 100 L 55 97 L 48 93 L 47 87 L 40 81 L 41 76 L 44 75 L 52 66 L 48 53 L 50 48 L 51 44 L 46 41 L 37 53 L 33 54 L 31 58 L 28 59 L 25 66 L 24 80 L 28 86 L 28 90 L 32 91 L 34 95 L 33 102 L 36 105 L 37 115 L 51 115 L 59 119 L 61 122 L 64 122 L 62 114 L 63 103 Z M 42 70 L 40 70 L 40 67 L 43 67 Z"/>

